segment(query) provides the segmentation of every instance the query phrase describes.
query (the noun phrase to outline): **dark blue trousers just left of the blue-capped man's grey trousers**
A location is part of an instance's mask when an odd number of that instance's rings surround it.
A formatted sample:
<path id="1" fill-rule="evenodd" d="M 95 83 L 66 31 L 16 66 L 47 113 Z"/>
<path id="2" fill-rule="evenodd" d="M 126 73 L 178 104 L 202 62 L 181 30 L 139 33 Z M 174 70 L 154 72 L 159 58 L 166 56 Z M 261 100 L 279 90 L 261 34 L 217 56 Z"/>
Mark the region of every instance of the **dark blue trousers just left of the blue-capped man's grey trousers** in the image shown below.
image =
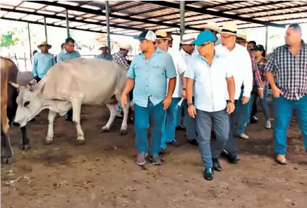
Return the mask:
<path id="1" fill-rule="evenodd" d="M 194 98 L 193 102 L 194 102 Z M 191 141 L 192 139 L 197 139 L 197 132 L 196 132 L 196 121 L 188 115 L 188 104 L 186 99 L 182 102 L 184 108 L 184 118 L 183 118 L 183 125 L 186 127 L 186 139 Z"/>

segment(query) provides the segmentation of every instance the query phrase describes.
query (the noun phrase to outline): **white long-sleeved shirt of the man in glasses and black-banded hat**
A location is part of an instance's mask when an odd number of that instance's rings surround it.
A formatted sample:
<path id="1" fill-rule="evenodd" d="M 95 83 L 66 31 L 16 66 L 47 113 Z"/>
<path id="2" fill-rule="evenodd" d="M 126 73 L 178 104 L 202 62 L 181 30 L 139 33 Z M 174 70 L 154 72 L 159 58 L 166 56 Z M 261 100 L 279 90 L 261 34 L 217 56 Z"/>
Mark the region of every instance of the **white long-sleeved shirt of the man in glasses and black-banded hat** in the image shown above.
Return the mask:
<path id="1" fill-rule="evenodd" d="M 238 100 L 241 93 L 241 86 L 244 85 L 243 96 L 251 97 L 253 89 L 253 70 L 251 65 L 251 57 L 246 49 L 239 44 L 234 46 L 232 51 L 219 44 L 215 46 L 215 51 L 219 56 L 227 56 L 227 67 L 231 66 L 234 69 L 234 84 L 236 85 L 234 99 Z M 228 100 L 229 98 L 227 98 Z"/>

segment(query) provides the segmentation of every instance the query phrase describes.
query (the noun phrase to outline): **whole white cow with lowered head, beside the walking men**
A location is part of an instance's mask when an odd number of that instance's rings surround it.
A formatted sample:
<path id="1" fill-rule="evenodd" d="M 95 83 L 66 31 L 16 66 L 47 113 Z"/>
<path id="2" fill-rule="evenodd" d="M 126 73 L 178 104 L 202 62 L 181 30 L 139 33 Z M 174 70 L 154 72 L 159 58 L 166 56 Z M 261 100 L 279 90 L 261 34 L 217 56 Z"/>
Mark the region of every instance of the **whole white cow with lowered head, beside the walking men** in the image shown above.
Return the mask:
<path id="1" fill-rule="evenodd" d="M 20 127 L 39 114 L 49 109 L 48 133 L 46 144 L 52 143 L 54 136 L 54 117 L 61 116 L 73 108 L 73 122 L 77 129 L 77 143 L 85 143 L 80 126 L 81 105 L 102 105 L 110 110 L 110 117 L 102 132 L 109 131 L 116 116 L 116 101 L 121 100 L 121 93 L 126 84 L 127 70 L 121 65 L 100 58 L 77 58 L 54 65 L 46 76 L 34 86 L 20 87 L 18 108 L 14 122 Z M 124 119 L 120 134 L 127 133 L 129 105 L 124 106 Z"/>

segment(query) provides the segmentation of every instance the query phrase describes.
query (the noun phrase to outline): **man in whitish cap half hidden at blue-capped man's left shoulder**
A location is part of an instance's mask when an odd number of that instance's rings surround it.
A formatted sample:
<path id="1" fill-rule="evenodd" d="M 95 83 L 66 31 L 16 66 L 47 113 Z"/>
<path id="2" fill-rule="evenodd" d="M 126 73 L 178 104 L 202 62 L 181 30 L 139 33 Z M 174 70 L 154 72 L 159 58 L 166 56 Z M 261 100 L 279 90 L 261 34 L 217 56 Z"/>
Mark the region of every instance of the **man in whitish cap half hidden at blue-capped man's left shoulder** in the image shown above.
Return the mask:
<path id="1" fill-rule="evenodd" d="M 184 34 L 182 37 L 182 41 L 180 42 L 181 44 L 180 53 L 187 65 L 187 69 L 188 69 L 188 63 L 192 59 L 192 53 L 195 50 L 195 44 L 193 44 L 194 40 L 195 40 L 195 34 Z M 192 145 L 198 145 L 195 119 L 188 115 L 188 105 L 186 103 L 186 99 L 183 100 L 181 106 L 183 106 L 184 108 L 183 124 L 184 126 L 186 126 L 186 140 L 188 141 L 188 143 L 191 143 Z"/>

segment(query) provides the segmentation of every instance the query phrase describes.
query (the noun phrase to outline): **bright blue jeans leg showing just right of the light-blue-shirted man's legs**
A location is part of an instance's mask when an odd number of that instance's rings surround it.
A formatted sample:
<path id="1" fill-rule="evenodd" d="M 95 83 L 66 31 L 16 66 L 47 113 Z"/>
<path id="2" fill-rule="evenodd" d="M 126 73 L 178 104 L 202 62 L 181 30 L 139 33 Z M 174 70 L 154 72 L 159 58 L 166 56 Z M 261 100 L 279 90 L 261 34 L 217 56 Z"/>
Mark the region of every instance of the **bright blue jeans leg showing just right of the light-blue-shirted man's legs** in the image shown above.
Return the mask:
<path id="1" fill-rule="evenodd" d="M 167 143 L 171 142 L 175 138 L 176 120 L 179 110 L 178 103 L 181 98 L 171 98 L 171 105 L 167 109 L 167 116 L 162 126 L 162 141 L 161 148 L 166 149 Z"/>

